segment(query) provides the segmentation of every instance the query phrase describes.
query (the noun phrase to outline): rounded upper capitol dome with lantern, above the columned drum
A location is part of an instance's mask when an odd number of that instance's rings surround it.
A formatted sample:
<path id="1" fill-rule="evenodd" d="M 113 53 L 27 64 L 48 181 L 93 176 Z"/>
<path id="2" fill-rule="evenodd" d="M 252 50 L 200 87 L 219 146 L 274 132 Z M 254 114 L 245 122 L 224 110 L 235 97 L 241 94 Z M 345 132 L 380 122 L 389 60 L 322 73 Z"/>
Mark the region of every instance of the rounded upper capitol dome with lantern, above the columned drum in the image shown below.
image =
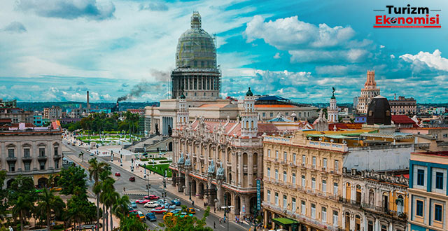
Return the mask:
<path id="1" fill-rule="evenodd" d="M 191 28 L 183 32 L 177 43 L 176 68 L 216 69 L 214 38 L 202 29 L 198 12 L 193 13 Z"/>

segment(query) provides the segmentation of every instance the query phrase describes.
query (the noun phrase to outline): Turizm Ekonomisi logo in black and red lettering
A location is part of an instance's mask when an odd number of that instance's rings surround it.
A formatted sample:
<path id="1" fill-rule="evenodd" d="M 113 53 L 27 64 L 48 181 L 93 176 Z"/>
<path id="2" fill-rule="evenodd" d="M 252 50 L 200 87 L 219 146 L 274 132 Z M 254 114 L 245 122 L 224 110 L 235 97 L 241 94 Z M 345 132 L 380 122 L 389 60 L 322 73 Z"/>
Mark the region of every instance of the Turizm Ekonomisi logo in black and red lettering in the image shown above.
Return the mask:
<path id="1" fill-rule="evenodd" d="M 374 28 L 441 28 L 440 9 L 422 6 L 386 6 L 386 9 L 374 10 L 384 12 L 375 15 Z"/>

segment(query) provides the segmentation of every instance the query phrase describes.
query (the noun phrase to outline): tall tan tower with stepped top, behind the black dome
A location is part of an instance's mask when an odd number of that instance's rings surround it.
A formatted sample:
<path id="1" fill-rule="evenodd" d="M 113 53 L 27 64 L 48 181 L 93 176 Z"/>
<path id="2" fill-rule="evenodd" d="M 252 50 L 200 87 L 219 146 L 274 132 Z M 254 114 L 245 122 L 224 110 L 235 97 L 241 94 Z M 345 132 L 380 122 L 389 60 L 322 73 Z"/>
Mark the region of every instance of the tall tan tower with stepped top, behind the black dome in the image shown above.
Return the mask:
<path id="1" fill-rule="evenodd" d="M 370 101 L 377 95 L 379 95 L 379 88 L 375 82 L 375 71 L 367 71 L 367 80 L 364 83 L 364 88 L 361 89 L 361 96 L 358 98 L 356 106 L 358 113 L 367 113 Z"/>

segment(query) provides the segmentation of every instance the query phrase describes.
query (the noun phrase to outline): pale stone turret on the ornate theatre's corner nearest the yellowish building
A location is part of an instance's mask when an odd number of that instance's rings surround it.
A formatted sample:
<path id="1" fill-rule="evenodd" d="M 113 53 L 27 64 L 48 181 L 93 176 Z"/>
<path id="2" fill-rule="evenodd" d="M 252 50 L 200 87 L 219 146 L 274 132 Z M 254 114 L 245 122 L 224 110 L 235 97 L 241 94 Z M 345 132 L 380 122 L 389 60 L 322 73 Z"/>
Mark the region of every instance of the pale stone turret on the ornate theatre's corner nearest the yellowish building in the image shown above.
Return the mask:
<path id="1" fill-rule="evenodd" d="M 249 87 L 244 97 L 244 112 L 241 113 L 241 136 L 256 137 L 258 132 L 258 113 L 255 112 L 255 99 Z"/>

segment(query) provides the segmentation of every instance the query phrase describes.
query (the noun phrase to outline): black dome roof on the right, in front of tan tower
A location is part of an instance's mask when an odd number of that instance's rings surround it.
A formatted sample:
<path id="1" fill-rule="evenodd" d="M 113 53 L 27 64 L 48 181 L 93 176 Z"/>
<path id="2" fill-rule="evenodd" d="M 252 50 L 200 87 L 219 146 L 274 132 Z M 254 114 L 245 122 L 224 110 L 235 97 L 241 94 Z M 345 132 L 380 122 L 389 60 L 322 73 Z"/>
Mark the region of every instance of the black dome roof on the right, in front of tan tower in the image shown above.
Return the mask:
<path id="1" fill-rule="evenodd" d="M 381 95 L 374 97 L 367 109 L 367 125 L 391 125 L 391 106 Z"/>

